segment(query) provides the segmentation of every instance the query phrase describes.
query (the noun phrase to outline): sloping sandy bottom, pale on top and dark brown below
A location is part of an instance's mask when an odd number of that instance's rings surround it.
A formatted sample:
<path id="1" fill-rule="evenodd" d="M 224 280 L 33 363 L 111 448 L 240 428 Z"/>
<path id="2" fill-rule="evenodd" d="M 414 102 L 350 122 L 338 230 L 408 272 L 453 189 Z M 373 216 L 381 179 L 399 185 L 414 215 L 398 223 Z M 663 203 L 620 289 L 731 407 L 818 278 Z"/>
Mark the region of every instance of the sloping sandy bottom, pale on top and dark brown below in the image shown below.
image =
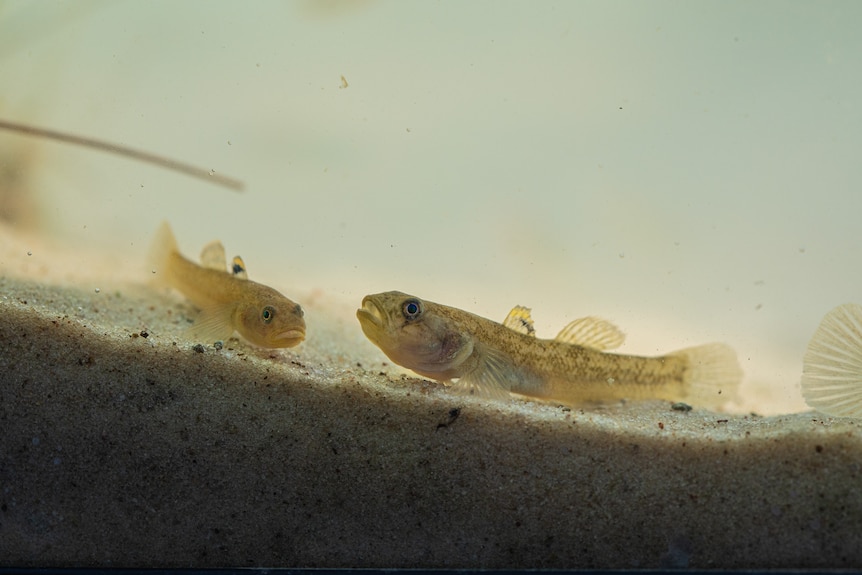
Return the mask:
<path id="1" fill-rule="evenodd" d="M 461 398 L 320 294 L 268 352 L 145 286 L 0 288 L 3 566 L 862 566 L 853 421 Z"/>

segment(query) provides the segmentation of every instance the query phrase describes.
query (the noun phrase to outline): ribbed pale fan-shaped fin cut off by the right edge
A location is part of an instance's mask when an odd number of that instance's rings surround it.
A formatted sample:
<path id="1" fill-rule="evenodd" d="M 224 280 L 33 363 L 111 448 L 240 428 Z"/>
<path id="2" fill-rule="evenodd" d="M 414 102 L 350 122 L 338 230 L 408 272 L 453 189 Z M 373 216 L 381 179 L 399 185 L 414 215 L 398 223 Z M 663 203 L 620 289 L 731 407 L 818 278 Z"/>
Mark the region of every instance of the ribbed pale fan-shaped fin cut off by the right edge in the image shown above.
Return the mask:
<path id="1" fill-rule="evenodd" d="M 862 306 L 840 305 L 820 322 L 802 360 L 802 395 L 828 415 L 862 417 Z"/>

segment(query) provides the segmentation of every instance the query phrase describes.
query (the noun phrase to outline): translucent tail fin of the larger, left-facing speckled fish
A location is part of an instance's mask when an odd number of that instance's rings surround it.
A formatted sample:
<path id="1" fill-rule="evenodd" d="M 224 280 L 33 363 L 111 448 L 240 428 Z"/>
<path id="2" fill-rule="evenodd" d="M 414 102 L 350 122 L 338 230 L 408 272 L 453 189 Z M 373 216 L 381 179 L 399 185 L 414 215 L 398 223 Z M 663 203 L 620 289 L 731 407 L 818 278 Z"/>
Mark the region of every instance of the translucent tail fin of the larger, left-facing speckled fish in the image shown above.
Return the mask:
<path id="1" fill-rule="evenodd" d="M 742 380 L 742 368 L 732 347 L 723 343 L 708 343 L 670 355 L 688 360 L 683 382 L 688 392 L 685 399 L 706 408 L 717 408 L 736 397 Z"/>

